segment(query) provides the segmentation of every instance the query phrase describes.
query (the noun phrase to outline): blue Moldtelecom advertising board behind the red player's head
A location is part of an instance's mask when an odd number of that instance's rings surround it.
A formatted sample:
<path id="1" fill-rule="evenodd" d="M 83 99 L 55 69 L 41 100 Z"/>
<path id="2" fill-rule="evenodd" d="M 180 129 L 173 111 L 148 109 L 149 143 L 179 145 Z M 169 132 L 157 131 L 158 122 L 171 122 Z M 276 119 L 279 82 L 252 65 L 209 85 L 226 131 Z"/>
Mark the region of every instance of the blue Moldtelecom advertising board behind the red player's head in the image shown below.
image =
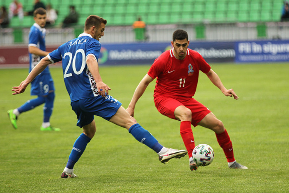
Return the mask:
<path id="1" fill-rule="evenodd" d="M 103 44 L 99 63 L 102 65 L 152 64 L 160 54 L 171 49 L 168 43 Z M 234 62 L 234 42 L 190 42 L 208 63 Z"/>

